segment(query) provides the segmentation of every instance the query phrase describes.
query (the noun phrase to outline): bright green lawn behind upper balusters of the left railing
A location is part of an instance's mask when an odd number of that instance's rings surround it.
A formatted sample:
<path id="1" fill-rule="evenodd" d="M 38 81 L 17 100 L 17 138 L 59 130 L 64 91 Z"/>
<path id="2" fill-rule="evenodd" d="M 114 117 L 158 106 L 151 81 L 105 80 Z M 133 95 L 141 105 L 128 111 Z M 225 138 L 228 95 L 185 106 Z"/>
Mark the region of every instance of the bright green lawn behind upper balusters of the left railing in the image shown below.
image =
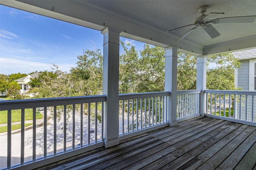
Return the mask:
<path id="1" fill-rule="evenodd" d="M 36 119 L 42 119 L 43 115 L 36 113 Z M 25 121 L 33 119 L 33 110 L 25 109 Z M 21 121 L 21 110 L 12 110 L 12 122 L 20 122 Z M 0 124 L 7 123 L 7 111 L 0 111 Z"/>

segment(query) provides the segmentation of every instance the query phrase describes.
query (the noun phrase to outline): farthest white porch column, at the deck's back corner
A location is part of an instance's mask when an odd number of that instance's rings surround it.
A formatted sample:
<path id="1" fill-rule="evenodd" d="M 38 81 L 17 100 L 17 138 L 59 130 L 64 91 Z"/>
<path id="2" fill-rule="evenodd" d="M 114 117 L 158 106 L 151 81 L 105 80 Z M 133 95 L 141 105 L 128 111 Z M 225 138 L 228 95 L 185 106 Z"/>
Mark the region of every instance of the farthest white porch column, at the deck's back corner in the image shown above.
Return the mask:
<path id="1" fill-rule="evenodd" d="M 206 89 L 206 58 L 206 55 L 198 56 L 196 63 L 196 89 L 202 90 L 199 100 L 200 116 L 204 116 L 206 113 L 206 95 L 204 93 Z"/>

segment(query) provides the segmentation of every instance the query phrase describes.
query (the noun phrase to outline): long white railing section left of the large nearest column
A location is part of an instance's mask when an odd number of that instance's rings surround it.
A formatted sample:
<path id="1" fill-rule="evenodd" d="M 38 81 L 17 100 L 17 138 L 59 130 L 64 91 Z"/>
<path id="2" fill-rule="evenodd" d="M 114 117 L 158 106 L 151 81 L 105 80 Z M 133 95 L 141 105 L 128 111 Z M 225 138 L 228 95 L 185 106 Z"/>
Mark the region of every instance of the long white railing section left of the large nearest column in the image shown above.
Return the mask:
<path id="1" fill-rule="evenodd" d="M 49 164 L 104 146 L 104 101 L 105 95 L 0 101 L 0 111 L 7 112 L 7 135 L 0 136 L 0 169 L 22 165 L 26 169 L 31 162 Z M 33 119 L 31 128 L 25 130 L 27 109 L 32 110 Z M 14 134 L 12 113 L 17 110 L 21 128 Z M 42 124 L 36 120 L 41 113 Z"/>

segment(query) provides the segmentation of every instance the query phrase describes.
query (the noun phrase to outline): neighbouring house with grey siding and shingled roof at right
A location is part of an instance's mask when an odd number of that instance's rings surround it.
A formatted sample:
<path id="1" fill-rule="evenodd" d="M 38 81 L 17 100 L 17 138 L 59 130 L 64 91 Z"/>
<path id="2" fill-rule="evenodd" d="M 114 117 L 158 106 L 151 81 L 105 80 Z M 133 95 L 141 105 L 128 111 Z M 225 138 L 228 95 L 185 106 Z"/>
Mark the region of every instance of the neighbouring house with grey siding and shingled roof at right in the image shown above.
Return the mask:
<path id="1" fill-rule="evenodd" d="M 256 48 L 247 49 L 243 51 L 233 52 L 234 57 L 240 60 L 240 68 L 235 69 L 235 85 L 236 87 L 242 87 L 243 91 L 256 91 Z M 251 97 L 248 96 L 248 101 L 252 101 Z M 256 97 L 254 97 L 254 109 L 253 109 L 253 119 L 256 121 Z M 241 119 L 245 119 L 244 115 L 247 109 L 248 118 L 252 118 L 252 103 L 248 103 L 246 108 L 245 100 L 242 100 L 241 107 Z M 236 109 L 236 113 L 239 117 L 239 105 Z"/>

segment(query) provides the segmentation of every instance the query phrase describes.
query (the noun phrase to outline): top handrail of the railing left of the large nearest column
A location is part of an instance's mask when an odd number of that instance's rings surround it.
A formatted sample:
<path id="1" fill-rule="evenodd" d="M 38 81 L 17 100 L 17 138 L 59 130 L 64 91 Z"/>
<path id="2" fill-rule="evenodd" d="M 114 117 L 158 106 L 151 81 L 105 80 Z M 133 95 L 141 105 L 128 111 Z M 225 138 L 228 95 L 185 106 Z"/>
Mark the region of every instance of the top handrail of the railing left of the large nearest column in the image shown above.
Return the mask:
<path id="1" fill-rule="evenodd" d="M 0 101 L 0 111 L 106 101 L 106 95 Z"/>

